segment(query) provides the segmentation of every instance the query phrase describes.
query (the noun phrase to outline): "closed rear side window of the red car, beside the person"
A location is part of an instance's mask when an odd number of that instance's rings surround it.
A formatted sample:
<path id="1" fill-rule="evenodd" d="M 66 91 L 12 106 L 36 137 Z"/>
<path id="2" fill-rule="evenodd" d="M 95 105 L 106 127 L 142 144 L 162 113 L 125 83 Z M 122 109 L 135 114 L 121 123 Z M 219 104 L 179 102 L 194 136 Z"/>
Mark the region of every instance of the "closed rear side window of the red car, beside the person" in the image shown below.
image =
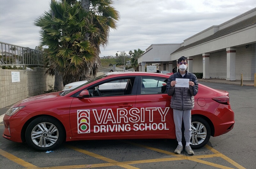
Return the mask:
<path id="1" fill-rule="evenodd" d="M 142 77 L 141 94 L 159 94 L 167 93 L 166 85 L 168 79 Z"/>

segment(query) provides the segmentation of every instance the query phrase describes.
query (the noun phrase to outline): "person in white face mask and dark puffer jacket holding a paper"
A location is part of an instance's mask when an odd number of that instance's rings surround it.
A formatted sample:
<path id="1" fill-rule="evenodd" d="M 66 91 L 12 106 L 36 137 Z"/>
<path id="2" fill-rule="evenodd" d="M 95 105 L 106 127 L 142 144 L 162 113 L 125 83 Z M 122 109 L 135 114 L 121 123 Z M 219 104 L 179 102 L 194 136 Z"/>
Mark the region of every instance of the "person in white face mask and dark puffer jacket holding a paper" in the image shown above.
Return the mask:
<path id="1" fill-rule="evenodd" d="M 186 140 L 185 151 L 187 151 L 189 155 L 194 155 L 195 153 L 190 147 L 191 109 L 194 108 L 194 96 L 198 92 L 198 81 L 196 75 L 186 70 L 188 67 L 188 60 L 186 57 L 180 57 L 177 63 L 177 68 L 179 68 L 178 71 L 171 75 L 167 82 L 167 94 L 172 96 L 171 108 L 173 109 L 173 120 L 178 141 L 178 146 L 174 152 L 180 154 L 181 151 L 183 151 L 183 145 L 181 143 L 181 125 L 183 120 Z M 175 87 L 177 78 L 189 79 L 189 87 Z"/>

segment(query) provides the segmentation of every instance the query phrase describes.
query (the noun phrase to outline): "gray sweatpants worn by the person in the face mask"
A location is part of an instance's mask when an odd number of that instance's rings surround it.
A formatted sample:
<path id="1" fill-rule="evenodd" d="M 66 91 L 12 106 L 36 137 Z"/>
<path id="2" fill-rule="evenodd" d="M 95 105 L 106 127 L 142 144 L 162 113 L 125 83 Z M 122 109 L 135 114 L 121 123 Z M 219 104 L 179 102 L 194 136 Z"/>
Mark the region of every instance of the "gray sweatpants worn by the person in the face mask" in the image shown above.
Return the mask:
<path id="1" fill-rule="evenodd" d="M 191 110 L 177 110 L 173 109 L 173 120 L 175 124 L 176 138 L 178 142 L 182 139 L 182 118 L 184 122 L 184 135 L 187 143 L 190 142 L 191 138 Z"/>

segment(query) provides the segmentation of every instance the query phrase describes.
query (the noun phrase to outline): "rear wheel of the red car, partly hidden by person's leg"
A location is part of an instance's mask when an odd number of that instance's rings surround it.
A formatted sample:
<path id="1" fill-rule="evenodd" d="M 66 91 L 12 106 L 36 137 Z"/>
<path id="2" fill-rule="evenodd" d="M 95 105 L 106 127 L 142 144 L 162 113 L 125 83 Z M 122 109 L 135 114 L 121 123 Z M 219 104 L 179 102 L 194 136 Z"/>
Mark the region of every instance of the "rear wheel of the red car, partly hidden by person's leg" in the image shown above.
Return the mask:
<path id="1" fill-rule="evenodd" d="M 207 121 L 202 117 L 192 116 L 191 119 L 191 139 L 190 146 L 192 149 L 199 149 L 208 143 L 211 137 L 211 128 Z"/>

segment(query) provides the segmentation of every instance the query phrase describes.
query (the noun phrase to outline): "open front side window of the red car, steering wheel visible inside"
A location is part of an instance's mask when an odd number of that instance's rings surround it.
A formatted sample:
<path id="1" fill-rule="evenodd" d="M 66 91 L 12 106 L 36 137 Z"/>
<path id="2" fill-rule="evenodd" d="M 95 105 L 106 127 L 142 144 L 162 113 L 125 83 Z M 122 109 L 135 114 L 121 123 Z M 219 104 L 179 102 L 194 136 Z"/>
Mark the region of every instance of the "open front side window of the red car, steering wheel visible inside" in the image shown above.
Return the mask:
<path id="1" fill-rule="evenodd" d="M 134 78 L 122 78 L 107 81 L 88 88 L 90 97 L 129 95 L 132 92 Z"/>

